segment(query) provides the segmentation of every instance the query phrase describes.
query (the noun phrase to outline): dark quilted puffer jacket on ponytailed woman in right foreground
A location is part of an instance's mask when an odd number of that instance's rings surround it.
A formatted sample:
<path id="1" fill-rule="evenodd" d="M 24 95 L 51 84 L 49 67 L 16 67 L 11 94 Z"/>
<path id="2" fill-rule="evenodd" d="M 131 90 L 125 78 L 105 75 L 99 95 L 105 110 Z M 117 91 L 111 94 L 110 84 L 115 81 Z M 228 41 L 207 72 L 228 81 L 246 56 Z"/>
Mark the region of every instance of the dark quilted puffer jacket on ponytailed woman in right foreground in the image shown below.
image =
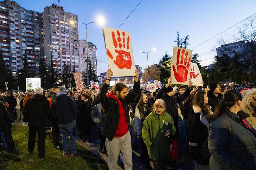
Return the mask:
<path id="1" fill-rule="evenodd" d="M 254 170 L 256 168 L 256 137 L 247 128 L 241 126 L 240 117 L 228 110 L 224 111 L 231 126 L 220 116 L 209 125 L 208 148 L 211 153 L 211 169 Z M 246 115 L 248 116 L 248 115 Z"/>

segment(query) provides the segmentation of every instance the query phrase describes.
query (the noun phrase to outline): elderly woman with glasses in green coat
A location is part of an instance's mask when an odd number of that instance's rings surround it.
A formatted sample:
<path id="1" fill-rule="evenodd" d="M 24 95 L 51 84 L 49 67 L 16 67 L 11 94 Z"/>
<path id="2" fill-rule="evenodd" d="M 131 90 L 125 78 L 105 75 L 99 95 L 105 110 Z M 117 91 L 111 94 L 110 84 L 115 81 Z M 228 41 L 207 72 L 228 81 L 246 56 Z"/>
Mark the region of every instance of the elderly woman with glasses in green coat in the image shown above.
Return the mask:
<path id="1" fill-rule="evenodd" d="M 170 137 L 176 132 L 172 117 L 164 109 L 165 102 L 157 99 L 153 112 L 146 117 L 142 128 L 142 138 L 154 169 L 165 169 Z"/>

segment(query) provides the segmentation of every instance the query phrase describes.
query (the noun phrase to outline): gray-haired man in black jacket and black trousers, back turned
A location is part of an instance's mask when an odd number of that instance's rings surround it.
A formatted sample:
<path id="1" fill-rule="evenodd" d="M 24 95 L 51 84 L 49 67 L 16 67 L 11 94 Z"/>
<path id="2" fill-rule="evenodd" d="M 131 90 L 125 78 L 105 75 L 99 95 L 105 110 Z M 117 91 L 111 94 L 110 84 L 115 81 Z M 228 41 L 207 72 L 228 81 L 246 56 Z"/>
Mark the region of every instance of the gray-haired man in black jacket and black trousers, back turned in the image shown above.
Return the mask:
<path id="1" fill-rule="evenodd" d="M 48 120 L 51 120 L 51 108 L 49 101 L 43 95 L 41 87 L 35 88 L 35 94 L 26 102 L 26 106 L 22 112 L 28 120 L 29 126 L 29 153 L 33 153 L 35 148 L 35 136 L 38 136 L 38 156 L 45 156 L 45 138 Z"/>

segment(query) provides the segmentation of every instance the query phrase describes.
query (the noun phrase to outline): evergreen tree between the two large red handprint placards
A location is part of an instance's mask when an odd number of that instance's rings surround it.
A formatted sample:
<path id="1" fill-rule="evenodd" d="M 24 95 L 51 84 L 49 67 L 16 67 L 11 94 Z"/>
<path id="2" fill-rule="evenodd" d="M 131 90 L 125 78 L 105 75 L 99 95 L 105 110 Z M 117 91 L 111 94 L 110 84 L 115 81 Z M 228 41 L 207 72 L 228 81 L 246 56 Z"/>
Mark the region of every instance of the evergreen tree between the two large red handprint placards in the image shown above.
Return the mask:
<path id="1" fill-rule="evenodd" d="M 165 54 L 163 55 L 163 57 L 160 59 L 159 61 L 159 65 L 160 67 L 160 81 L 162 83 L 168 83 L 168 79 L 170 77 L 170 69 L 171 69 L 171 62 L 170 60 L 172 59 L 172 57 L 167 53 L 167 51 L 165 52 Z"/>

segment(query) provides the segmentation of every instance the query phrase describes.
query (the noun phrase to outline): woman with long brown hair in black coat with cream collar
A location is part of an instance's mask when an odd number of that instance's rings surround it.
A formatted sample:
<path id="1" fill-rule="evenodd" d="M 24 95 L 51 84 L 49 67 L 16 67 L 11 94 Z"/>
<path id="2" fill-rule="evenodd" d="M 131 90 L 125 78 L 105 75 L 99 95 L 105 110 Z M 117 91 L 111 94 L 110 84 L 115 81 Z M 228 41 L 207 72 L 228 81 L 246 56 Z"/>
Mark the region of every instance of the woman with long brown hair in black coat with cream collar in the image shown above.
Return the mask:
<path id="1" fill-rule="evenodd" d="M 208 170 L 209 160 L 202 153 L 202 146 L 207 139 L 207 129 L 209 126 L 209 116 L 213 113 L 208 105 L 208 96 L 205 91 L 197 91 L 192 101 L 192 109 L 189 114 L 189 145 L 191 155 L 195 159 L 196 170 Z"/>

